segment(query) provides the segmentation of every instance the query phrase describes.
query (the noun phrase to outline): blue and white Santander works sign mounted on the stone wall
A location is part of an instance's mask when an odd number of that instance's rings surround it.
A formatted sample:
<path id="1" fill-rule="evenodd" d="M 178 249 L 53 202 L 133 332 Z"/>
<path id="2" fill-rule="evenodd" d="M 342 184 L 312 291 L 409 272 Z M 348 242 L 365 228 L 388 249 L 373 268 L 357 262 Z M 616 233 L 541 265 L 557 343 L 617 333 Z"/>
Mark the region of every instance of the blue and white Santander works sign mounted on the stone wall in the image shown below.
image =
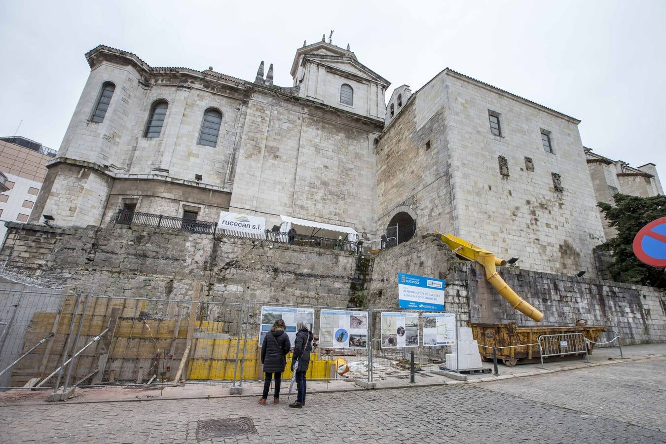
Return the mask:
<path id="1" fill-rule="evenodd" d="M 441 279 L 398 273 L 398 306 L 410 310 L 442 312 L 445 284 Z"/>

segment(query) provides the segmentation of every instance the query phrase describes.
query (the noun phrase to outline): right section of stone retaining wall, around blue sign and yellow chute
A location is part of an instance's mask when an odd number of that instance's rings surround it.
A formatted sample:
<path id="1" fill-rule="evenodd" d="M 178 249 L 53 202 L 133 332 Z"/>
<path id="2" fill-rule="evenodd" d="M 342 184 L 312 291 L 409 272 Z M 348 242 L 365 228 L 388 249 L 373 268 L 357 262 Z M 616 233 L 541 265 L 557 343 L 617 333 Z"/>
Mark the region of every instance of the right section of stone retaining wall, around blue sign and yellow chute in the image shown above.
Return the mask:
<path id="1" fill-rule="evenodd" d="M 666 341 L 666 308 L 655 288 L 512 267 L 498 271 L 519 296 L 543 312 L 539 325 L 573 325 L 583 319 L 588 325 L 613 328 L 625 344 Z M 376 256 L 370 306 L 397 307 L 398 272 L 446 280 L 445 309 L 458 312 L 462 325 L 537 324 L 490 286 L 482 266 L 457 260 L 436 236 L 415 238 Z"/>

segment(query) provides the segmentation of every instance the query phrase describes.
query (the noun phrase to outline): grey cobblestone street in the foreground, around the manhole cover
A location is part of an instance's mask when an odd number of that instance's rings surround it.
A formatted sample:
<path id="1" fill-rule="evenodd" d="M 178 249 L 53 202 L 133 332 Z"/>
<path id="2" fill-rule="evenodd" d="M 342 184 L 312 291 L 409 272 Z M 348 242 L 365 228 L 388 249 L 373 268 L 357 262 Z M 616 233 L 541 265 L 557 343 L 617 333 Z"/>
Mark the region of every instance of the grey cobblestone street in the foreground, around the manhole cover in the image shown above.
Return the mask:
<path id="1" fill-rule="evenodd" d="M 666 359 L 491 383 L 313 394 L 0 408 L 3 442 L 196 442 L 197 421 L 249 417 L 229 442 L 663 442 Z M 293 396 L 292 396 L 293 397 Z M 269 398 L 269 401 L 271 399 Z M 256 433 L 255 433 L 256 431 Z M 222 441 L 220 438 L 219 441 Z"/>

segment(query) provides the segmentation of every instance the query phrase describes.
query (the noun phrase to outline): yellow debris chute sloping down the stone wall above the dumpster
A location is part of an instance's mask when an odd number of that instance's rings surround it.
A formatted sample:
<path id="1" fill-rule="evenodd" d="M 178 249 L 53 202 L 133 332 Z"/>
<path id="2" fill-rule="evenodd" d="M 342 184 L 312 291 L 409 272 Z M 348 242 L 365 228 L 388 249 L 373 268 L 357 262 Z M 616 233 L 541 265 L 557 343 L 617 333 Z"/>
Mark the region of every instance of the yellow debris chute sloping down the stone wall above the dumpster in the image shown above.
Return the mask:
<path id="1" fill-rule="evenodd" d="M 496 290 L 500 292 L 502 298 L 509 301 L 511 307 L 515 308 L 515 310 L 518 310 L 525 316 L 529 316 L 529 318 L 536 322 L 539 322 L 543 318 L 543 313 L 539 312 L 539 310 L 532 307 L 527 301 L 518 296 L 511 287 L 504 282 L 500 274 L 497 272 L 495 267 L 505 266 L 505 260 L 496 258 L 495 255 L 488 250 L 472 245 L 470 242 L 458 238 L 453 234 L 442 234 L 437 231 L 436 233 L 442 236 L 444 243 L 447 244 L 454 253 L 468 260 L 474 260 L 484 266 L 486 269 L 486 280 L 488 280 L 490 285 L 494 286 Z"/>

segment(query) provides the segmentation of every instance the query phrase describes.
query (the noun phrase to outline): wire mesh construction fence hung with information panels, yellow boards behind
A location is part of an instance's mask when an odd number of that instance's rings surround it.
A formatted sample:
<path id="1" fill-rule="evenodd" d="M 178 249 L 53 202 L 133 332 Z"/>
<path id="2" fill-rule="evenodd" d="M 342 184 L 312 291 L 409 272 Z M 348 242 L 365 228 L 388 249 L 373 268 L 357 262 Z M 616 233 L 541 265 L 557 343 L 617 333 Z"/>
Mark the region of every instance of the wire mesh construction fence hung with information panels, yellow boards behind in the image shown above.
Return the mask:
<path id="1" fill-rule="evenodd" d="M 260 382 L 261 343 L 277 319 L 292 347 L 299 321 L 314 333 L 306 376 L 315 381 L 414 380 L 481 367 L 484 345 L 471 329 L 458 337 L 456 313 L 211 302 L 198 282 L 190 300 L 17 288 L 26 287 L 0 283 L 0 389 Z M 282 379 L 291 376 L 287 365 Z"/>

